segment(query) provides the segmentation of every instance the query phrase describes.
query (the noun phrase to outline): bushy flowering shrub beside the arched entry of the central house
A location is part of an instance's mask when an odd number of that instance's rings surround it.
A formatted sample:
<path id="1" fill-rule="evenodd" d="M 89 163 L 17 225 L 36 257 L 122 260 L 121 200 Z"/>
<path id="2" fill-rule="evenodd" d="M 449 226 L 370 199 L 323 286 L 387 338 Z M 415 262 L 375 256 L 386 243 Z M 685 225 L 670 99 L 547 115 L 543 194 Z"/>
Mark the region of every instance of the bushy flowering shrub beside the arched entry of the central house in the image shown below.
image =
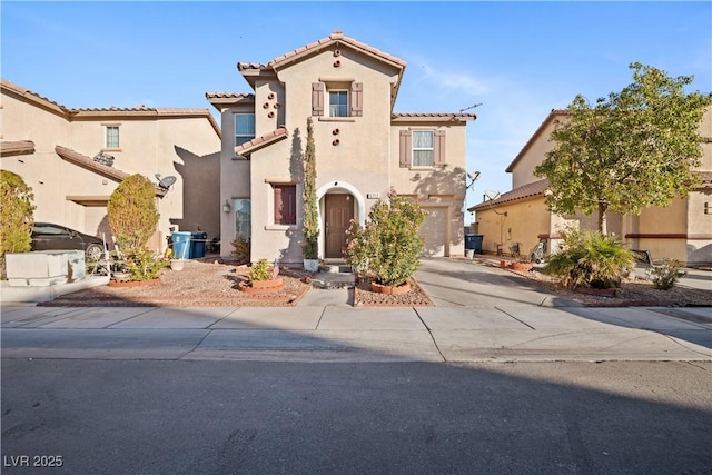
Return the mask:
<path id="1" fill-rule="evenodd" d="M 370 270 L 382 285 L 397 286 L 412 277 L 425 248 L 419 228 L 426 212 L 405 197 L 389 195 L 376 202 L 362 228 L 352 220 L 344 257 L 359 269 Z"/>

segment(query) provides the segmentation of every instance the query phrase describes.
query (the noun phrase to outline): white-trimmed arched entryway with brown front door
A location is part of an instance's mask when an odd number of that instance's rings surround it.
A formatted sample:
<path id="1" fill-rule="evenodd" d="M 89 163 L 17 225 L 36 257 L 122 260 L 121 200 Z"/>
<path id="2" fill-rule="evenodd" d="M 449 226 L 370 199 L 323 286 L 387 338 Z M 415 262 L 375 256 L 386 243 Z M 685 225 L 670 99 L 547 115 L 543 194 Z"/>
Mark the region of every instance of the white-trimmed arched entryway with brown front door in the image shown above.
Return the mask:
<path id="1" fill-rule="evenodd" d="M 326 259 L 344 257 L 346 231 L 350 220 L 365 221 L 365 202 L 358 190 L 343 181 L 334 181 L 317 190 L 322 228 L 322 256 Z"/>

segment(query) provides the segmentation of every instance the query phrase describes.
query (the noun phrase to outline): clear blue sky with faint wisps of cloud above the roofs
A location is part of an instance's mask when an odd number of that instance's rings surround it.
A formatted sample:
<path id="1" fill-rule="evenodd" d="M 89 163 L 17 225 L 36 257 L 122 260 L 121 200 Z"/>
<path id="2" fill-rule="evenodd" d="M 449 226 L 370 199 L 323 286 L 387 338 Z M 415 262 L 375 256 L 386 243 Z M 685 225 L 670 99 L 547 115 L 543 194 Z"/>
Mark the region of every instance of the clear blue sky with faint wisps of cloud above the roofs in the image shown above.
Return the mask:
<path id="1" fill-rule="evenodd" d="M 340 30 L 407 62 L 395 111 L 482 103 L 468 126 L 468 169 L 481 171 L 468 206 L 511 189 L 504 170 L 551 109 L 620 91 L 631 62 L 712 90 L 709 1 L 3 0 L 0 16 L 2 78 L 70 108 L 212 109 L 207 91 L 250 92 L 238 61 L 267 62 Z"/>

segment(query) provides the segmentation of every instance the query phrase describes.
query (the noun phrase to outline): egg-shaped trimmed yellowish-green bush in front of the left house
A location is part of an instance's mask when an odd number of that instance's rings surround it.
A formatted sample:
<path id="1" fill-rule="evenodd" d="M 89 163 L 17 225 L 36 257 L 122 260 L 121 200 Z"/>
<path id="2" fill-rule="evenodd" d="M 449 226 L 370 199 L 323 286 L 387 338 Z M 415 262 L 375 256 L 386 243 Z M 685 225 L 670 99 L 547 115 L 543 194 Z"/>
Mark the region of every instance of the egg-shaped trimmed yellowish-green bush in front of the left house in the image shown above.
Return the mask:
<path id="1" fill-rule="evenodd" d="M 109 227 L 126 253 L 142 249 L 156 231 L 159 218 L 156 189 L 141 175 L 131 175 L 113 190 L 107 202 Z"/>

